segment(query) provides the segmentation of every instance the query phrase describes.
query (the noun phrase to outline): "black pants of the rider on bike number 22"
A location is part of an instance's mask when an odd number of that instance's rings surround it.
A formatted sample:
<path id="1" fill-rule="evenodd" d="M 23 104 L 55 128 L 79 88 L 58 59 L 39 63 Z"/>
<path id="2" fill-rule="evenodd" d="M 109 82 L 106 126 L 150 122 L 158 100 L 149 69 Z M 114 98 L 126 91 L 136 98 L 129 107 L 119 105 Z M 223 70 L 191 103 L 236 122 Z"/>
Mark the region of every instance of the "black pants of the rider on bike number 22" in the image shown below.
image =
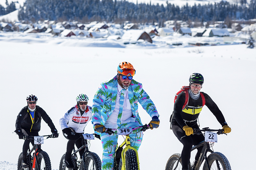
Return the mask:
<path id="1" fill-rule="evenodd" d="M 193 129 L 199 129 L 198 125 L 196 124 Z M 200 142 L 204 141 L 204 135 L 189 135 L 187 136 L 185 131 L 177 125 L 172 125 L 172 131 L 174 135 L 179 139 L 179 141 L 183 144 L 183 149 L 181 152 L 181 163 L 182 169 L 188 169 L 188 164 L 191 155 L 191 149 L 193 145 L 197 145 Z M 195 160 L 198 161 L 200 157 L 200 153 L 203 149 L 203 146 L 197 149 Z"/>

